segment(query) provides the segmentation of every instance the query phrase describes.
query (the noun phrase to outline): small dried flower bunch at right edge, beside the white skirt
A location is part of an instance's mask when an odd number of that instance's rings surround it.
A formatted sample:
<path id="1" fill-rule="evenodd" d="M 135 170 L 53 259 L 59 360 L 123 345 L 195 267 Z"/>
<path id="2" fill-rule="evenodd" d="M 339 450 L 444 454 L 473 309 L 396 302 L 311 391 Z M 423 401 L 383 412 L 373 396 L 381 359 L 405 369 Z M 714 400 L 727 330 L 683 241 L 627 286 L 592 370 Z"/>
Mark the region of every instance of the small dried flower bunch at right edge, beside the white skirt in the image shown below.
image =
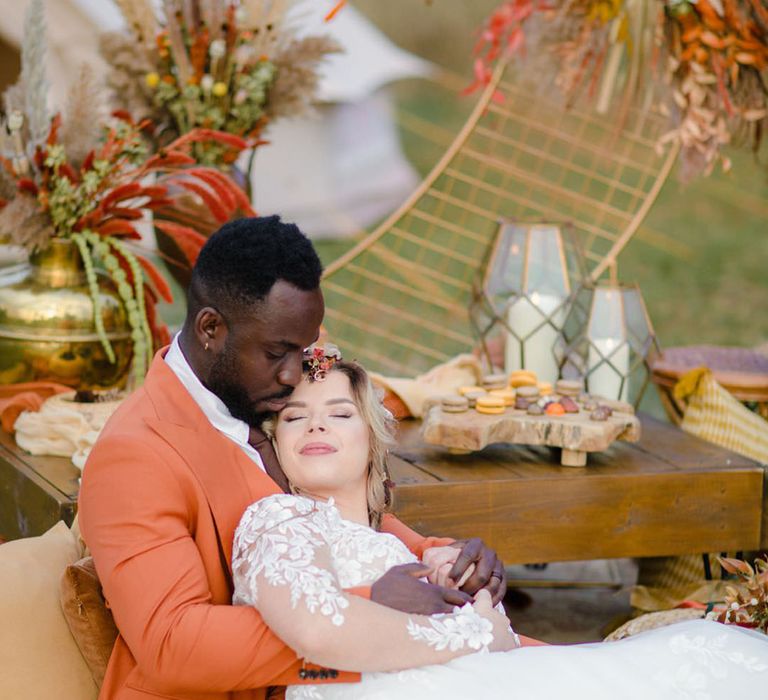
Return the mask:
<path id="1" fill-rule="evenodd" d="M 756 559 L 754 566 L 741 559 L 718 557 L 718 560 L 738 583 L 727 586 L 725 607 L 712 614 L 713 619 L 768 634 L 768 556 Z"/>

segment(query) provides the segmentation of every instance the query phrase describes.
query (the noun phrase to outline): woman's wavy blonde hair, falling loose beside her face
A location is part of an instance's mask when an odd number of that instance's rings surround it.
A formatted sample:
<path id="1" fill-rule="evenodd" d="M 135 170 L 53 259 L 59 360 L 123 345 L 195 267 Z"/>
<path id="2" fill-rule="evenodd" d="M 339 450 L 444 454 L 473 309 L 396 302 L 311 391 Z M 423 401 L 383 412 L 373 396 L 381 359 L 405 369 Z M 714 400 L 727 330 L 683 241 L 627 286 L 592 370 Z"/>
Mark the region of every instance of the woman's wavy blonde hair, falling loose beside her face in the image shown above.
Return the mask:
<path id="1" fill-rule="evenodd" d="M 352 399 L 360 415 L 368 426 L 368 519 L 371 527 L 378 529 L 384 513 L 390 510 L 392 495 L 390 492 L 389 472 L 387 471 L 387 453 L 394 444 L 397 422 L 382 404 L 368 373 L 357 362 L 340 360 L 329 372 L 342 372 L 349 379 Z M 305 379 L 306 381 L 306 376 Z M 277 416 L 264 422 L 262 429 L 274 440 Z M 291 485 L 294 493 L 297 489 Z"/>

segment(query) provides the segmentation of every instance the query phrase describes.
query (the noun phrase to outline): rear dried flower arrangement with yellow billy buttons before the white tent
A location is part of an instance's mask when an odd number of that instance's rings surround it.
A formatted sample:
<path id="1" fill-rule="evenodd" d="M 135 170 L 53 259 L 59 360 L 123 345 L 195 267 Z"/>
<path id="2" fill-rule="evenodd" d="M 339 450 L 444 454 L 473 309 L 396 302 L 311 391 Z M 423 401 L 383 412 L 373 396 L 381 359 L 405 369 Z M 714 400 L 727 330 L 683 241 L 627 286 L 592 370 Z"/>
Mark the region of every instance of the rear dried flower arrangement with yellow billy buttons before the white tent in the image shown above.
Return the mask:
<path id="1" fill-rule="evenodd" d="M 130 33 L 102 37 L 109 82 L 121 108 L 159 125 L 161 143 L 207 128 L 255 149 L 270 121 L 311 108 L 318 66 L 340 50 L 328 37 L 294 36 L 290 0 L 164 0 L 160 15 L 151 0 L 117 4 Z M 193 155 L 225 167 L 240 150 L 197 143 Z"/>

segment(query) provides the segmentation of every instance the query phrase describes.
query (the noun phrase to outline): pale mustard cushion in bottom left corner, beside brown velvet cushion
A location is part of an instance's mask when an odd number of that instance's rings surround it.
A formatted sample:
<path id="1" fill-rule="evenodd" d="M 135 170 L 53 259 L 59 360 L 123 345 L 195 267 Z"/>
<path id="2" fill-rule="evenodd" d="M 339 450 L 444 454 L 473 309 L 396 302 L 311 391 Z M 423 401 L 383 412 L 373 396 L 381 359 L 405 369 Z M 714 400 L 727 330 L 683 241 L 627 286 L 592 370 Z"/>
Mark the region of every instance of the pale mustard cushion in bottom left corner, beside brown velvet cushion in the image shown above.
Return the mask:
<path id="1" fill-rule="evenodd" d="M 59 604 L 61 575 L 81 556 L 63 522 L 0 545 L 0 698 L 96 698 Z"/>

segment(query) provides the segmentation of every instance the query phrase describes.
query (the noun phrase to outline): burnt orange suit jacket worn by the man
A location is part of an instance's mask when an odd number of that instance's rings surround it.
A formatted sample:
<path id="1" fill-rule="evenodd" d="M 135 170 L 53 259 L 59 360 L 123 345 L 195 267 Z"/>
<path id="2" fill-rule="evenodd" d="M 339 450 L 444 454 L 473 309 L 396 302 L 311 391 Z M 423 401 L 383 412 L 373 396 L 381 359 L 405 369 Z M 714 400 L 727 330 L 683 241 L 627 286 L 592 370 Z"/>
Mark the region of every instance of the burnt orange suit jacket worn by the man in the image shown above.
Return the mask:
<path id="1" fill-rule="evenodd" d="M 261 700 L 301 682 L 301 662 L 254 608 L 230 605 L 230 562 L 247 506 L 279 489 L 211 426 L 164 355 L 83 471 L 80 527 L 120 630 L 99 697 Z M 446 542 L 391 516 L 383 529 L 417 556 Z"/>

